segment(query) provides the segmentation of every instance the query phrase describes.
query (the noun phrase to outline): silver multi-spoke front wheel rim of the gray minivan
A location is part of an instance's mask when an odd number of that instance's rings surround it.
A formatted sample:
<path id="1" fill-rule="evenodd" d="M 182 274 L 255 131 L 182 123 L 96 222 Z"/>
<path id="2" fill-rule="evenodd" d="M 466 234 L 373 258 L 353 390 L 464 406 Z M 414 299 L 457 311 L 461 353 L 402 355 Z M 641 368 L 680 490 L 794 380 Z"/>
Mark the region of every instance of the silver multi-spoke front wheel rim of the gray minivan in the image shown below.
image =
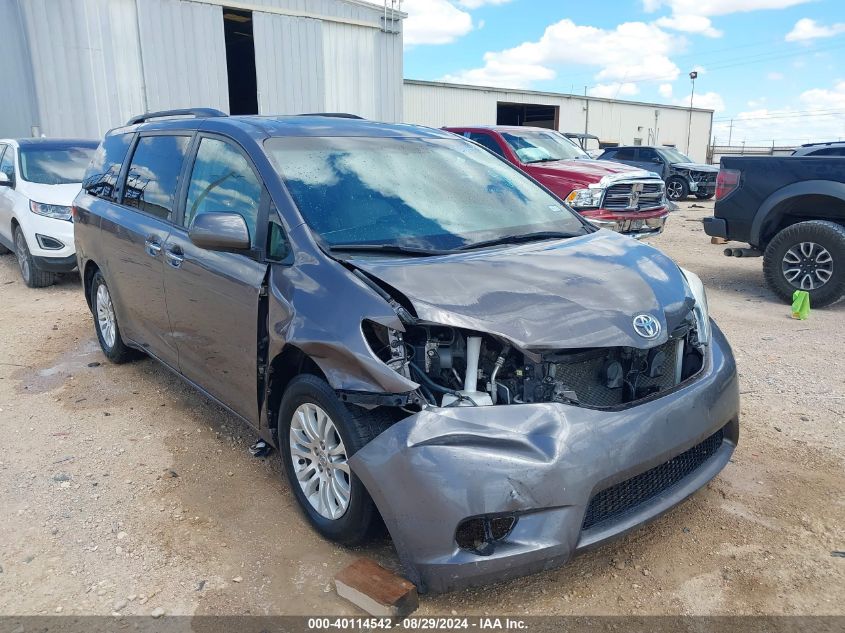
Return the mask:
<path id="1" fill-rule="evenodd" d="M 296 479 L 320 516 L 339 519 L 349 508 L 351 482 L 346 447 L 329 415 L 306 402 L 293 412 L 290 454 Z"/>

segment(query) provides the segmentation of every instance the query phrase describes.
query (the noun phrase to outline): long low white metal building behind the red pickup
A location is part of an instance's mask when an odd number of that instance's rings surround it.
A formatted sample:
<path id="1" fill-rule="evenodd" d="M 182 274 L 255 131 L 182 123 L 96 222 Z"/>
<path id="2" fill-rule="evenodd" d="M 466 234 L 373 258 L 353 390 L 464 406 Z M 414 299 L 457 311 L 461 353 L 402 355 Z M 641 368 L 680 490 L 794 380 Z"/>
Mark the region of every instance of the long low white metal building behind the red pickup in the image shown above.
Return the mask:
<path id="1" fill-rule="evenodd" d="M 594 134 L 602 145 L 673 145 L 702 162 L 713 125 L 713 111 L 699 108 L 411 79 L 404 102 L 406 123 L 534 125 Z"/>

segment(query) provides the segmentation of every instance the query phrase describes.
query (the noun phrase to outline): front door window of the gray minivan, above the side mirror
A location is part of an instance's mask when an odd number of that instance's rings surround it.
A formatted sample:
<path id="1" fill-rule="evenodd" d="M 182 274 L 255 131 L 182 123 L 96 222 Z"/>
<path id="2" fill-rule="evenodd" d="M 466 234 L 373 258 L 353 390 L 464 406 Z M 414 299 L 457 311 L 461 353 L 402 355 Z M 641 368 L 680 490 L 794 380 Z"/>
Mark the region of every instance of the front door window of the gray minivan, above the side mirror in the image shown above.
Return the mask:
<path id="1" fill-rule="evenodd" d="M 188 186 L 185 227 L 202 213 L 237 213 L 246 221 L 255 246 L 260 203 L 261 182 L 243 154 L 224 141 L 202 139 Z"/>

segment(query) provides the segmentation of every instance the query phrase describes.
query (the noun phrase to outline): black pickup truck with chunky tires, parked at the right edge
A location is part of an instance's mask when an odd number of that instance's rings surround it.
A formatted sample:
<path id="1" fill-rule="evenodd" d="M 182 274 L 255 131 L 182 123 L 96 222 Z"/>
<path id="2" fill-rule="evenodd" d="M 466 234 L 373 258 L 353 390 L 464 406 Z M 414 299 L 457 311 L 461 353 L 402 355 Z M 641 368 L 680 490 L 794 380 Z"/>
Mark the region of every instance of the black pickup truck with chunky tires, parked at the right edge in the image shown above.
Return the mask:
<path id="1" fill-rule="evenodd" d="M 747 242 L 734 257 L 763 256 L 769 287 L 815 307 L 845 296 L 845 157 L 722 158 L 707 235 Z"/>

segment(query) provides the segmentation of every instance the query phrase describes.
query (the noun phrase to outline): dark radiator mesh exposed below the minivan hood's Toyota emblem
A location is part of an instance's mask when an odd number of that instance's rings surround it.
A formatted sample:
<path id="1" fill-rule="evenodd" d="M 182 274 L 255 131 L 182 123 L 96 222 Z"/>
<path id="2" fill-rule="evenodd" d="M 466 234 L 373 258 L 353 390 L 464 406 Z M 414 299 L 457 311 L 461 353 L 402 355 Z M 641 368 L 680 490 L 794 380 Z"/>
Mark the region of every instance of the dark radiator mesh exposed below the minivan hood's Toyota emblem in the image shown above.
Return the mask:
<path id="1" fill-rule="evenodd" d="M 650 354 L 663 353 L 663 362 L 656 364 L 657 375 L 649 377 L 639 374 L 633 385 L 638 392 L 665 391 L 676 383 L 678 363 L 678 345 L 683 339 L 673 339 L 650 350 Z M 554 379 L 566 385 L 578 394 L 578 402 L 590 407 L 615 407 L 625 403 L 625 390 L 622 387 L 610 388 L 602 376 L 602 370 L 609 361 L 622 360 L 624 348 L 617 347 L 601 350 L 593 355 L 571 363 L 556 363 Z"/>

